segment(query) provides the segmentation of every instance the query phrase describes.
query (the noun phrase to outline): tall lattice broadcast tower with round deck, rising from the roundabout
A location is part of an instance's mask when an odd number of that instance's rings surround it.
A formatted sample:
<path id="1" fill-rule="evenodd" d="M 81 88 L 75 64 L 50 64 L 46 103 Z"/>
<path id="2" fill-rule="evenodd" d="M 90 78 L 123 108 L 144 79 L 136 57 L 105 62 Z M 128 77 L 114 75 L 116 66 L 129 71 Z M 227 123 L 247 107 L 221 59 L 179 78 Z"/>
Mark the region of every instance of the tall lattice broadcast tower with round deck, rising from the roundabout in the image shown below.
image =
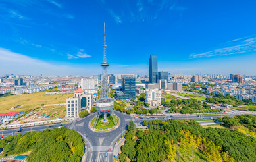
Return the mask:
<path id="1" fill-rule="evenodd" d="M 113 115 L 113 99 L 109 97 L 109 86 L 107 84 L 107 67 L 109 66 L 109 63 L 107 62 L 107 55 L 106 55 L 106 26 L 104 23 L 104 46 L 103 46 L 103 61 L 101 63 L 102 67 L 102 80 L 101 80 L 101 97 L 97 99 L 96 101 L 96 109 L 97 109 L 97 119 L 99 118 L 99 115 L 104 113 L 104 121 L 107 121 L 107 113 Z M 97 121 L 95 122 L 95 124 Z"/>

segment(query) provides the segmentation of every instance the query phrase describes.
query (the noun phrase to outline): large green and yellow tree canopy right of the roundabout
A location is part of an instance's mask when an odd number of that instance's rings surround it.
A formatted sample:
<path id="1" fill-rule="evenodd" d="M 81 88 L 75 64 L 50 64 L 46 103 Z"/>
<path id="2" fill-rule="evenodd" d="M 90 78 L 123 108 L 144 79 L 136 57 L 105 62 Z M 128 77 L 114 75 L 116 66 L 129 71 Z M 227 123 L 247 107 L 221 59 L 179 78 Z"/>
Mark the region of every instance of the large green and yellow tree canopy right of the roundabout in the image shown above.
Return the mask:
<path id="1" fill-rule="evenodd" d="M 180 158 L 182 161 L 250 162 L 256 159 L 256 138 L 236 130 L 205 129 L 194 120 L 143 121 L 143 125 L 147 125 L 147 129 L 134 130 L 134 124 L 130 123 L 119 155 L 121 162 L 179 161 Z"/>

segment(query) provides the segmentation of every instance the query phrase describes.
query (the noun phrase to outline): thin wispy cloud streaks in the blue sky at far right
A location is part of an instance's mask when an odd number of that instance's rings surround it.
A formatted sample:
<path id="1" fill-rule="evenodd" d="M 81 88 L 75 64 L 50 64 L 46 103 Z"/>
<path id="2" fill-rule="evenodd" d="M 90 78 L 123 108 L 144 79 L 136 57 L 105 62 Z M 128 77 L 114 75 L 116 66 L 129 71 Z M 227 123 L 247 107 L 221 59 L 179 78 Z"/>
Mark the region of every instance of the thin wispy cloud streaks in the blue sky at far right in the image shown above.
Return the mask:
<path id="1" fill-rule="evenodd" d="M 249 53 L 256 51 L 256 37 L 242 40 L 242 38 L 230 41 L 232 45 L 229 47 L 224 47 L 220 49 L 215 49 L 213 51 L 208 51 L 205 53 L 192 54 L 192 58 L 201 58 L 201 57 L 213 57 L 219 55 L 234 55 L 239 53 Z"/>

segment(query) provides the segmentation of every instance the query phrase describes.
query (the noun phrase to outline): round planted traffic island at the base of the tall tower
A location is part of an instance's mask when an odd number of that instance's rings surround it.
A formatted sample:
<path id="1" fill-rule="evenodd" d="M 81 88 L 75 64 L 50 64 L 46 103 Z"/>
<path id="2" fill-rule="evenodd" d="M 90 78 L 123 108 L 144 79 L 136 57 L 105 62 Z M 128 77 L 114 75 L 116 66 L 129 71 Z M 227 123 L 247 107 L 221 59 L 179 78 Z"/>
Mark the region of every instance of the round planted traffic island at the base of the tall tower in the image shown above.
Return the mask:
<path id="1" fill-rule="evenodd" d="M 120 124 L 120 119 L 116 115 L 110 115 L 109 113 L 106 114 L 107 119 L 104 121 L 104 114 L 99 115 L 99 119 L 97 116 L 93 117 L 90 121 L 90 128 L 96 132 L 108 132 L 118 128 Z M 95 124 L 97 120 L 97 124 Z"/>

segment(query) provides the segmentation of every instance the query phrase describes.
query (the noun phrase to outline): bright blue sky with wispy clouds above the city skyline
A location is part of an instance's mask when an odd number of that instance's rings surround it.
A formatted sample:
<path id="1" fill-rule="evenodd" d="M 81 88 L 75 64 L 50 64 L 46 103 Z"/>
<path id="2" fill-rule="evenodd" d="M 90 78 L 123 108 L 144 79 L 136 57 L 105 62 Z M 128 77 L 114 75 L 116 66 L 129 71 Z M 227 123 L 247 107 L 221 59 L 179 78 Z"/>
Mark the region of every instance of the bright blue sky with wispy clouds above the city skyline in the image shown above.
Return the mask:
<path id="1" fill-rule="evenodd" d="M 1 0 L 0 75 L 256 75 L 256 1 Z"/>

